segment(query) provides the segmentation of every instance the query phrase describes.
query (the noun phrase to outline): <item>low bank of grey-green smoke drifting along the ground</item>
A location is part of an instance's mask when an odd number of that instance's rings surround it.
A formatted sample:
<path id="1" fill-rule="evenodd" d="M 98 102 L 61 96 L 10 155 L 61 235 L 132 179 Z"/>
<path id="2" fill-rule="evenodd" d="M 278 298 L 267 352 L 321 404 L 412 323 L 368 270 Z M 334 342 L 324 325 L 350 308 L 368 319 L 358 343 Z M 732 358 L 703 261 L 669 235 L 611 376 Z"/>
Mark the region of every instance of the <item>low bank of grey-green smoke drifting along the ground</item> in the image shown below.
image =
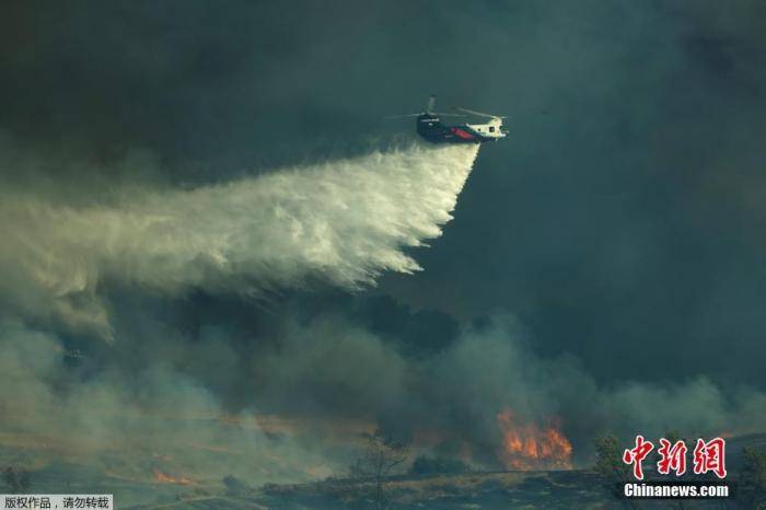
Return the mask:
<path id="1" fill-rule="evenodd" d="M 155 332 L 82 359 L 60 336 L 2 323 L 0 454 L 135 480 L 159 472 L 207 484 L 233 474 L 258 485 L 343 475 L 360 432 L 376 427 L 416 454 L 496 470 L 507 465 L 500 413 L 519 427 L 556 424 L 574 466 L 590 464 L 596 434 L 708 437 L 766 426 L 762 392 L 707 379 L 600 385 L 571 357 L 534 353 L 509 316 L 464 326 L 428 359 L 337 314 L 280 322 L 243 352 L 225 329 L 196 339 Z M 125 361 L 131 356 L 138 368 Z M 221 378 L 246 393 L 244 406 L 224 404 L 232 392 Z"/>

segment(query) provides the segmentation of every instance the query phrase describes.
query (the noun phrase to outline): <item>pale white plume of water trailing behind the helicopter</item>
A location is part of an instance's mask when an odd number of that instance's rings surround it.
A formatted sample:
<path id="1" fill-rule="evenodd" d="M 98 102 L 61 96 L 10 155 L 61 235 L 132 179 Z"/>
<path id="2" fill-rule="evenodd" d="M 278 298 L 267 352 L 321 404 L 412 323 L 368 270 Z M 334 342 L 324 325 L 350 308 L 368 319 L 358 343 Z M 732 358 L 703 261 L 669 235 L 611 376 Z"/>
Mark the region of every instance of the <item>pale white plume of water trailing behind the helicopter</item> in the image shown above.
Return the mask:
<path id="1" fill-rule="evenodd" d="M 0 292 L 25 315 L 109 338 L 105 281 L 170 294 L 358 289 L 420 269 L 403 248 L 441 234 L 477 152 L 416 144 L 95 206 L 3 193 Z"/>

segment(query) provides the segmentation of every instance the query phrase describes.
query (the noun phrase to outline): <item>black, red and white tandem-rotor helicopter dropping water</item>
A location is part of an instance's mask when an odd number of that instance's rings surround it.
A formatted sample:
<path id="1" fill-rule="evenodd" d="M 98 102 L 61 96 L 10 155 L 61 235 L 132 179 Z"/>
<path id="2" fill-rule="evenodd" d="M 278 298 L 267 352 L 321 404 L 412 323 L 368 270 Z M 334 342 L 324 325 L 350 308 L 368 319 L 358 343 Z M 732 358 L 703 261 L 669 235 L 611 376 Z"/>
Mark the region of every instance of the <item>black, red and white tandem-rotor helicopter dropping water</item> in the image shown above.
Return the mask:
<path id="1" fill-rule="evenodd" d="M 484 114 L 467 108 L 455 107 L 461 114 L 434 112 L 437 97 L 431 95 L 426 104 L 426 111 L 419 114 L 394 115 L 386 118 L 417 117 L 416 129 L 426 140 L 432 143 L 483 143 L 498 141 L 508 136 L 508 130 L 502 126 L 501 115 Z M 485 124 L 460 124 L 448 126 L 441 121 L 441 117 L 466 117 L 467 115 L 486 117 Z"/>

